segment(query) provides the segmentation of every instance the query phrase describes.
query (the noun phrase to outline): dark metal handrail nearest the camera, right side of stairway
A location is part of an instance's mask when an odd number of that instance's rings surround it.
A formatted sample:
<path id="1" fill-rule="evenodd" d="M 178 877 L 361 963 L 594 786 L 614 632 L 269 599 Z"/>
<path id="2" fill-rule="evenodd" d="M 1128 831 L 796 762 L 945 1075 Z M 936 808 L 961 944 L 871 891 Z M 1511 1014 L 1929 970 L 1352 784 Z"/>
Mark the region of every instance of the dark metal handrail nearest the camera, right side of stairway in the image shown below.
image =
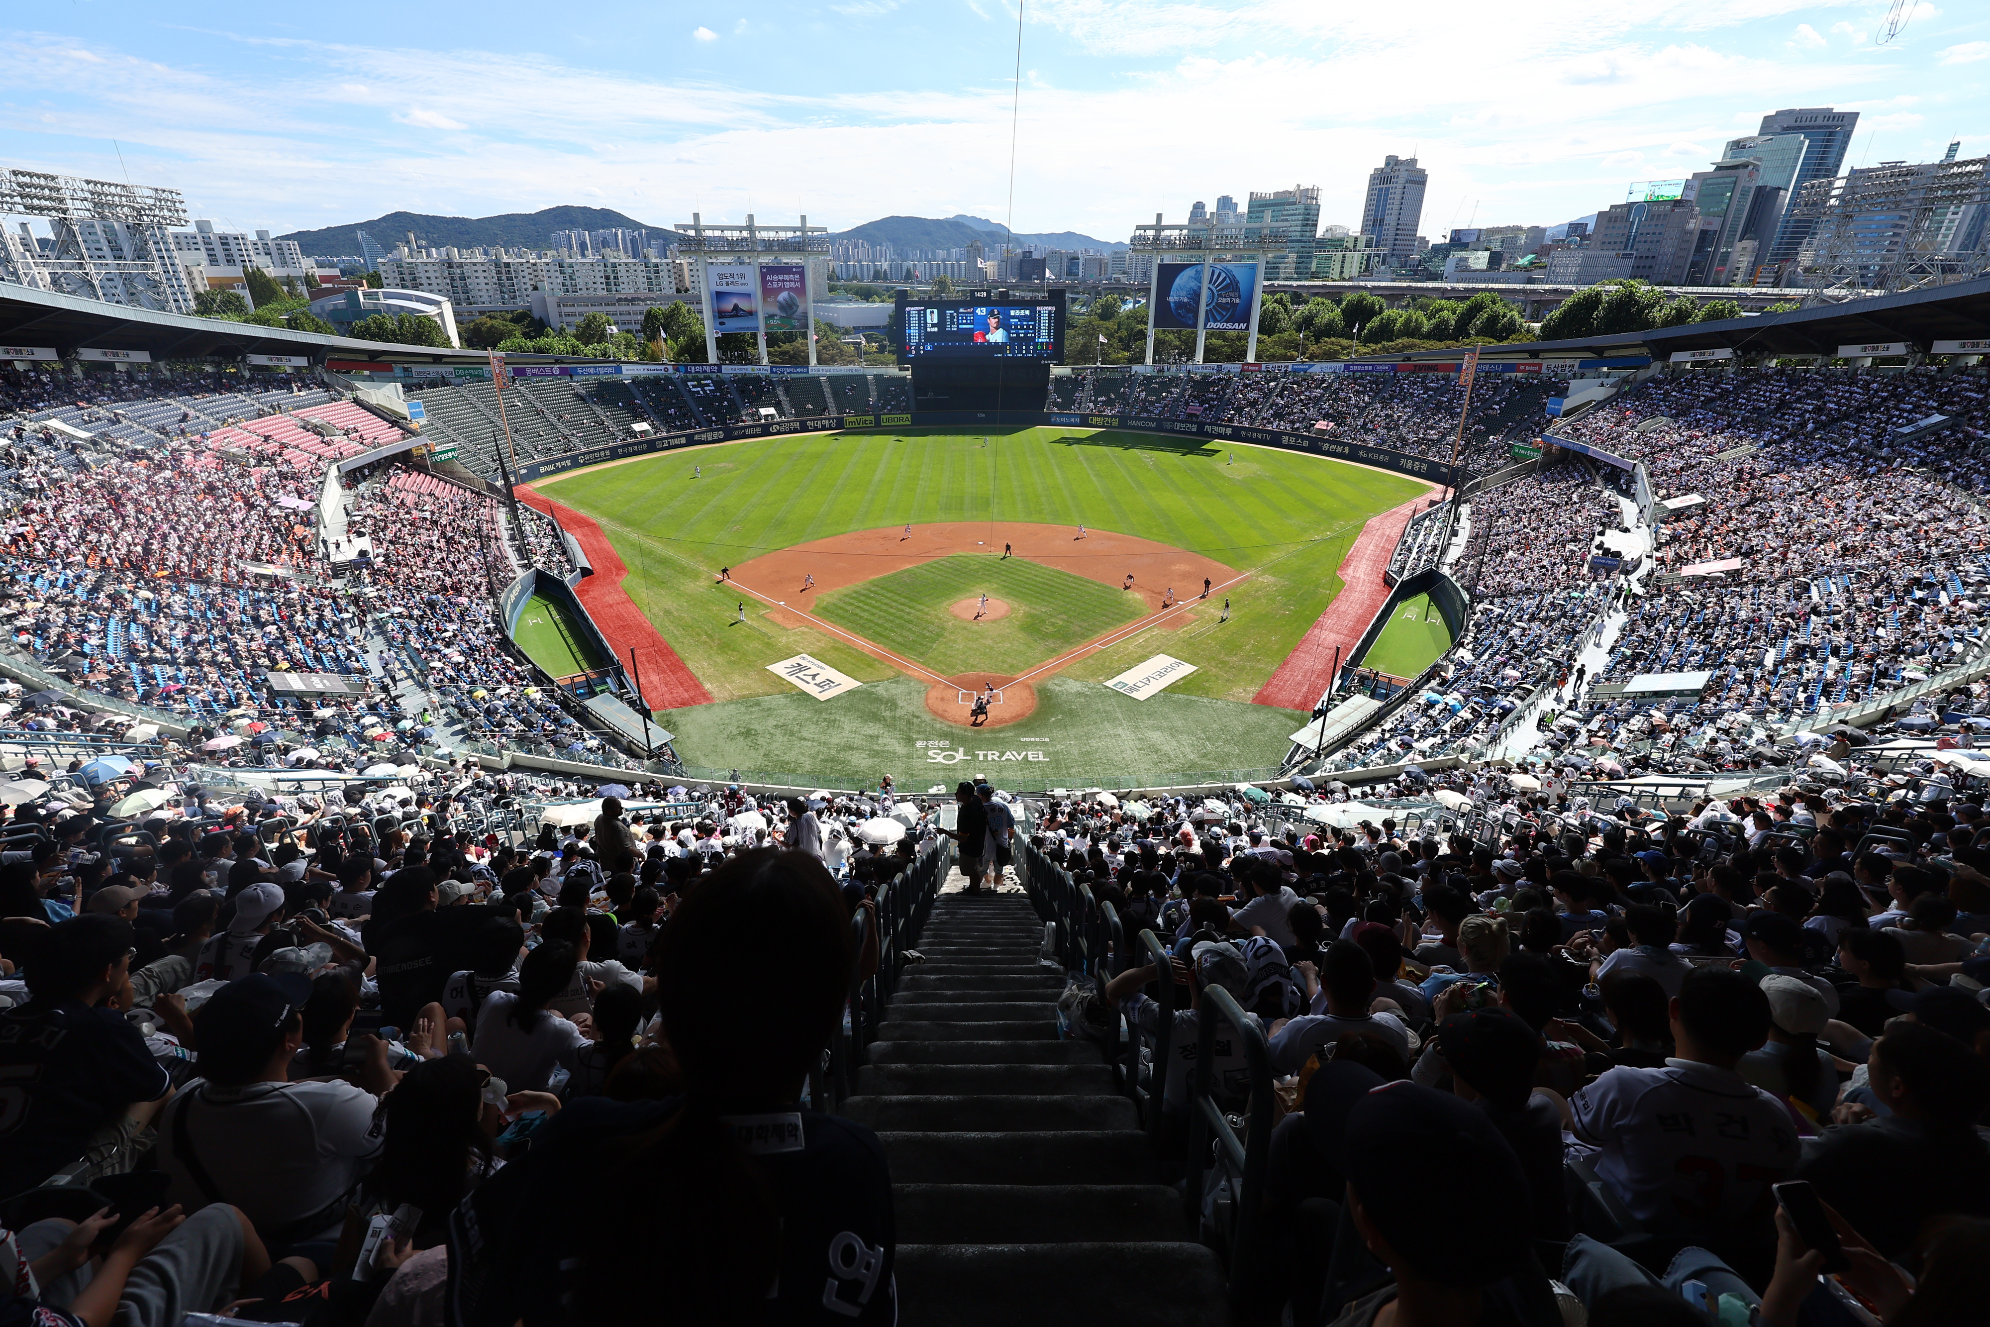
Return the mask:
<path id="1" fill-rule="evenodd" d="M 1240 1140 L 1222 1106 L 1216 1104 L 1216 1023 L 1224 1021 L 1244 1043 L 1244 1060 L 1250 1070 L 1250 1122 Z M 1160 1064 L 1156 1062 L 1156 1072 Z M 1218 1253 L 1230 1261 L 1230 1301 L 1236 1305 L 1244 1293 L 1246 1271 L 1244 1251 L 1254 1247 L 1258 1208 L 1264 1194 L 1264 1172 L 1272 1152 L 1272 1046 L 1264 1031 L 1238 1007 L 1236 999 L 1222 987 L 1202 991 L 1200 1019 L 1196 1021 L 1196 1068 L 1188 1088 L 1188 1192 L 1184 1210 L 1190 1230 L 1198 1230 L 1202 1220 L 1202 1158 L 1208 1156 L 1210 1140 L 1224 1152 L 1230 1166 L 1242 1176 L 1230 1230 L 1218 1232 L 1226 1247 Z"/>

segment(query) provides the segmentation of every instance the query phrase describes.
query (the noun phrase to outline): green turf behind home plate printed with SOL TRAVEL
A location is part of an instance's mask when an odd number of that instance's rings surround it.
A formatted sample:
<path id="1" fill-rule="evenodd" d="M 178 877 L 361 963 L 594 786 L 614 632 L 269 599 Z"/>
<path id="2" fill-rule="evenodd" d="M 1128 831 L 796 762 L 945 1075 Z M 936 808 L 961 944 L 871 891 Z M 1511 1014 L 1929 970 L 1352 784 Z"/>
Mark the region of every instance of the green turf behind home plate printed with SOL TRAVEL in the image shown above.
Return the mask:
<path id="1" fill-rule="evenodd" d="M 925 792 L 975 776 L 1021 790 L 1136 788 L 1184 774 L 1214 782 L 1276 766 L 1305 714 L 1172 690 L 1132 700 L 1053 676 L 1037 682 L 1037 712 L 1023 722 L 961 728 L 925 710 L 921 682 L 894 676 L 834 700 L 790 688 L 669 710 L 657 722 L 675 734 L 687 762 L 716 776 L 736 768 L 768 782 L 848 788 L 890 774 L 899 792 Z"/>

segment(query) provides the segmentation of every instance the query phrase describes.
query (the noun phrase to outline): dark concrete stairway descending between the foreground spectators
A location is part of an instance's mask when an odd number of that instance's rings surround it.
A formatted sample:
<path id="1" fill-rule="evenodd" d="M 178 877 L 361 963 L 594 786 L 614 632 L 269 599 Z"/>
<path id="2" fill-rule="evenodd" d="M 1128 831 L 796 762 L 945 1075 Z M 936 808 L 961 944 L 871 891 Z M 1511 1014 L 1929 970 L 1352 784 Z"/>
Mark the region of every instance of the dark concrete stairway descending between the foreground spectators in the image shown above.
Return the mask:
<path id="1" fill-rule="evenodd" d="M 1222 1267 L 1098 1048 L 1057 1039 L 1041 943 L 1021 893 L 941 893 L 846 1102 L 892 1162 L 899 1321 L 1220 1327 Z"/>

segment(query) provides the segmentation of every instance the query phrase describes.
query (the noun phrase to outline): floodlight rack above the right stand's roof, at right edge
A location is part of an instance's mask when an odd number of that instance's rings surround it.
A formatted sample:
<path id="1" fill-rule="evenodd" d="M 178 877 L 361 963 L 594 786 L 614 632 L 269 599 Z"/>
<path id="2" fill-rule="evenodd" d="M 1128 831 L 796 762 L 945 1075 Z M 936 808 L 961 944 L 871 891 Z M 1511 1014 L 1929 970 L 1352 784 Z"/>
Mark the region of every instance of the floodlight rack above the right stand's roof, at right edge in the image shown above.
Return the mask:
<path id="1" fill-rule="evenodd" d="M 1990 157 L 1885 161 L 1797 191 L 1791 217 L 1813 221 L 1797 255 L 1805 302 L 1970 281 L 1990 271 Z M 1787 284 L 1797 284 L 1785 279 Z"/>

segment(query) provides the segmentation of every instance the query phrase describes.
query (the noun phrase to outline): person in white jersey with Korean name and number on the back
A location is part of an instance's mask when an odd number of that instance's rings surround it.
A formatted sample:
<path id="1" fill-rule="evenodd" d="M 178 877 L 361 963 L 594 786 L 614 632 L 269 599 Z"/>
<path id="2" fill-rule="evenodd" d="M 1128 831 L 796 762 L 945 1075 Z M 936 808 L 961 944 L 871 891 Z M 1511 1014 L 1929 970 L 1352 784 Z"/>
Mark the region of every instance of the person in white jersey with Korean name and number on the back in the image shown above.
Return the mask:
<path id="1" fill-rule="evenodd" d="M 1570 1100 L 1576 1140 L 1652 1233 L 1773 1239 L 1769 1186 L 1797 1166 L 1789 1110 L 1735 1072 L 1769 1039 L 1769 997 L 1741 973 L 1699 969 L 1672 1001 L 1664 1068 L 1612 1068 Z"/>

